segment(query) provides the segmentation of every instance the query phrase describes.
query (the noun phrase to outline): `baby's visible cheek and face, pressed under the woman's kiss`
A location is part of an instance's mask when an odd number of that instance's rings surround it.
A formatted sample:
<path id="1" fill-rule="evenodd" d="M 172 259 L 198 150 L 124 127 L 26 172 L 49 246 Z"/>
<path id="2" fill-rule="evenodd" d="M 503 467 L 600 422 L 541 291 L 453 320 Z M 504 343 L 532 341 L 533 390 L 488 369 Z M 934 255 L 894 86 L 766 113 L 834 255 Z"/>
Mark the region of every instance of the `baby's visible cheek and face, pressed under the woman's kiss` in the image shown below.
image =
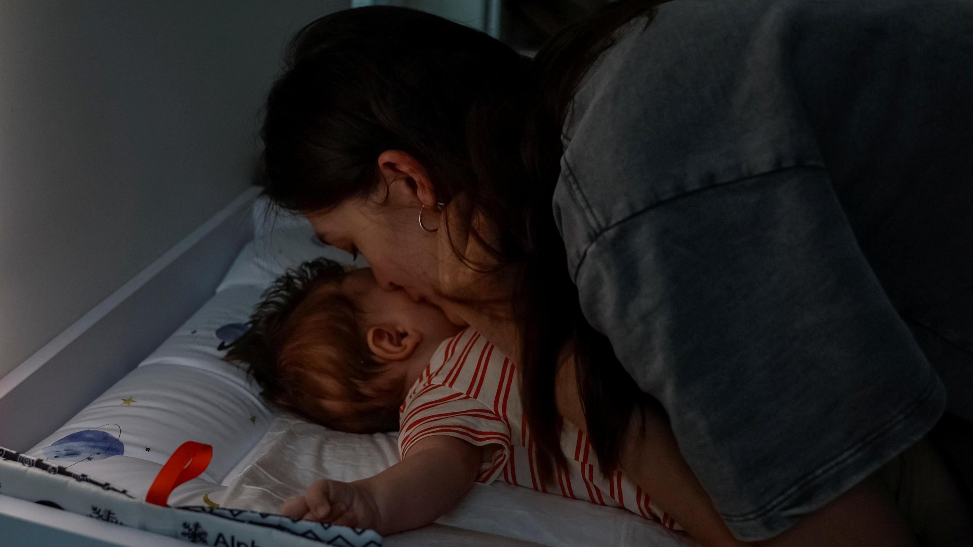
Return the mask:
<path id="1" fill-rule="evenodd" d="M 342 281 L 342 291 L 355 300 L 369 322 L 394 321 L 409 325 L 422 333 L 423 340 L 436 345 L 460 330 L 439 307 L 423 300 L 416 302 L 402 289 L 382 289 L 372 270 L 367 268 L 348 274 Z"/>

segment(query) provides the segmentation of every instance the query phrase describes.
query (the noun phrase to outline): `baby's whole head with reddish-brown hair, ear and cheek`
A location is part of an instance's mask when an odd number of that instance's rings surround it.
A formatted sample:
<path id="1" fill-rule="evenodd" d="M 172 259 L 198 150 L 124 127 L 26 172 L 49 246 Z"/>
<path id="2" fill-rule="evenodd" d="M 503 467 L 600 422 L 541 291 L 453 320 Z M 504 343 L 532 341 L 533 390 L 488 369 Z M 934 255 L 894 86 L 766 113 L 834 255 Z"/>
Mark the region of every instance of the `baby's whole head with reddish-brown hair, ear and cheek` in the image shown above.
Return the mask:
<path id="1" fill-rule="evenodd" d="M 272 404 L 332 429 L 391 431 L 436 347 L 458 327 L 369 269 L 326 259 L 278 278 L 227 359 L 248 365 Z"/>

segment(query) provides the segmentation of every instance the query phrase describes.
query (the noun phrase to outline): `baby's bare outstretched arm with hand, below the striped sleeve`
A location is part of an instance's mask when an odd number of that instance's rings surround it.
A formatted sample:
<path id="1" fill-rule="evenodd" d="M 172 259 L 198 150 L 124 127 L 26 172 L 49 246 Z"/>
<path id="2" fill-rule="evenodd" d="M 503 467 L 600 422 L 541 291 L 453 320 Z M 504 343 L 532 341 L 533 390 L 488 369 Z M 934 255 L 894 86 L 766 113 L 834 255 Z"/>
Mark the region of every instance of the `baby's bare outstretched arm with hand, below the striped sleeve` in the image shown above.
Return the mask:
<path id="1" fill-rule="evenodd" d="M 281 514 L 381 534 L 420 528 L 449 511 L 470 490 L 485 451 L 493 448 L 431 435 L 374 477 L 312 484 L 303 496 L 287 500 Z"/>

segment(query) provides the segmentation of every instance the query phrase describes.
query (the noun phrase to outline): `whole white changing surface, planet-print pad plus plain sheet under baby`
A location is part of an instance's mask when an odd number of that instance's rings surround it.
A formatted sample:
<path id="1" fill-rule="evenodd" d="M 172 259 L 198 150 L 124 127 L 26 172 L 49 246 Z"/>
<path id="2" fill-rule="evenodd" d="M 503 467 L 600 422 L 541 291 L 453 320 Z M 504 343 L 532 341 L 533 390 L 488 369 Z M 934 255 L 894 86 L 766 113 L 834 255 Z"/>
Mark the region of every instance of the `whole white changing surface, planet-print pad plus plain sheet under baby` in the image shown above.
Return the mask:
<path id="1" fill-rule="evenodd" d="M 260 399 L 259 386 L 222 360 L 276 276 L 318 256 L 351 263 L 347 253 L 321 245 L 303 219 L 268 222 L 262 207 L 255 208 L 258 237 L 242 249 L 213 298 L 29 456 L 54 459 L 144 497 L 176 448 L 197 441 L 213 447 L 213 459 L 169 503 L 268 512 L 317 479 L 357 480 L 398 461 L 395 434 L 355 435 L 278 416 Z M 355 264 L 365 265 L 361 259 Z M 385 545 L 693 544 L 622 509 L 502 483 L 477 485 L 437 523 L 391 536 Z"/>

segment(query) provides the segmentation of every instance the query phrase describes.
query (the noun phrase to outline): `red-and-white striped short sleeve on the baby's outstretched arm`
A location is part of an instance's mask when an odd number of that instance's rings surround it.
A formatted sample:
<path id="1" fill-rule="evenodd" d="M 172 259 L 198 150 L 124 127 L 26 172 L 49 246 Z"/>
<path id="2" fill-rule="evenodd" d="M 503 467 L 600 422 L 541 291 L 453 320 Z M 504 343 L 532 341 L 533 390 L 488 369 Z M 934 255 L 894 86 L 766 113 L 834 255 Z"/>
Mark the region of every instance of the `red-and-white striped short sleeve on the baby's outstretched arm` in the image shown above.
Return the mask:
<path id="1" fill-rule="evenodd" d="M 510 458 L 510 427 L 479 400 L 441 383 L 419 387 L 400 417 L 399 453 L 405 458 L 415 443 L 448 435 L 478 447 L 498 445 L 481 464 L 477 482 L 490 484 Z"/>

